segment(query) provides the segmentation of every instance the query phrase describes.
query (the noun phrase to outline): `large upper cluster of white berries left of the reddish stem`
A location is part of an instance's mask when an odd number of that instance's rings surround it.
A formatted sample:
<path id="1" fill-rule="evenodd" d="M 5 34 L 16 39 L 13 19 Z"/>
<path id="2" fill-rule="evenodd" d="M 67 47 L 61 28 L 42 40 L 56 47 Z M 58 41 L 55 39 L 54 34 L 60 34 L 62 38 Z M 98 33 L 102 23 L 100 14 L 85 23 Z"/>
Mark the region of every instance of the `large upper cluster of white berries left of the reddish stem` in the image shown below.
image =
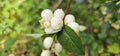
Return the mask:
<path id="1" fill-rule="evenodd" d="M 50 9 L 45 9 L 42 11 L 41 17 L 40 23 L 46 34 L 56 33 L 62 29 L 64 17 L 62 9 L 57 9 L 54 13 Z"/>

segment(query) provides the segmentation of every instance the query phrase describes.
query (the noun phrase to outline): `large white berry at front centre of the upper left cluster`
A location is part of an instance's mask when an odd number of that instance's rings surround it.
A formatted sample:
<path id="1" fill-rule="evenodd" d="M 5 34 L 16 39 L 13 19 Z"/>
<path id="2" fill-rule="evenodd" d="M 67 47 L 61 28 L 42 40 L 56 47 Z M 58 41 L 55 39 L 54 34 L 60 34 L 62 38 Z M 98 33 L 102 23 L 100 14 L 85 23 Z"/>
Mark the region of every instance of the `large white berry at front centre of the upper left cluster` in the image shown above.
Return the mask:
<path id="1" fill-rule="evenodd" d="M 51 19 L 51 27 L 53 29 L 60 29 L 63 27 L 63 20 L 58 17 L 53 17 Z"/>

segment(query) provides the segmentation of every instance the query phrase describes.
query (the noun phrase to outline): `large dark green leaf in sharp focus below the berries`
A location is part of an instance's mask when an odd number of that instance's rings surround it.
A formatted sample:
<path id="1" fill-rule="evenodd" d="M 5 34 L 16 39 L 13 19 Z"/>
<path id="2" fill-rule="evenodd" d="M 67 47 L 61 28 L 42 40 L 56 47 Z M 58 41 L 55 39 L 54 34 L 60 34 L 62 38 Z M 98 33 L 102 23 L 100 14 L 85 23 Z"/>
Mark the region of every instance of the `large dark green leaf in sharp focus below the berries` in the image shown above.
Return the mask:
<path id="1" fill-rule="evenodd" d="M 67 51 L 78 55 L 84 54 L 80 38 L 70 27 L 64 26 L 57 39 Z"/>

